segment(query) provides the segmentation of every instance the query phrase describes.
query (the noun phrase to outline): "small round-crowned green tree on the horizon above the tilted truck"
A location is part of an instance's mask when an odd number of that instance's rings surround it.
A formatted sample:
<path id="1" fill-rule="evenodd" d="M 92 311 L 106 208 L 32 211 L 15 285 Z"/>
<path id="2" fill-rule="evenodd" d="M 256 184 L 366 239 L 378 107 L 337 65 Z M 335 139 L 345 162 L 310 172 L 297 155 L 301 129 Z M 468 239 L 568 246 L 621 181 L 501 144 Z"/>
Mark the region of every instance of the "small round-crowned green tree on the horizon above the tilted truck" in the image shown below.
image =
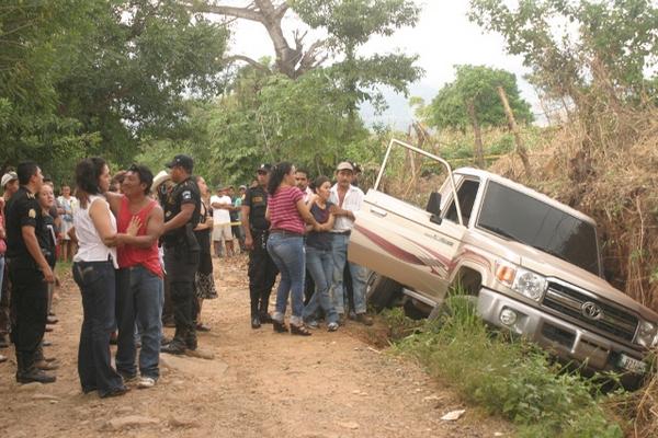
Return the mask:
<path id="1" fill-rule="evenodd" d="M 521 99 L 517 77 L 506 70 L 485 66 L 455 66 L 456 78 L 444 85 L 430 104 L 430 125 L 465 130 L 472 127 L 475 135 L 475 155 L 484 166 L 481 127 L 506 126 L 507 115 L 497 88 L 507 94 L 517 120 L 531 123 L 530 104 Z"/>

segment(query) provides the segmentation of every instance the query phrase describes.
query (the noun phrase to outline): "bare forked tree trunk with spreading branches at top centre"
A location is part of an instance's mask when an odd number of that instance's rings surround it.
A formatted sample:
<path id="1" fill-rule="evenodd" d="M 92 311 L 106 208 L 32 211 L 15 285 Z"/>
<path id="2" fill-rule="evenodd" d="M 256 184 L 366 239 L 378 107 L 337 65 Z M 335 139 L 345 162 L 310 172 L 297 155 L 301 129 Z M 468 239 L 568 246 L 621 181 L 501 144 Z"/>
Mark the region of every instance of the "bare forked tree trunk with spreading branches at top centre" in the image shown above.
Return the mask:
<path id="1" fill-rule="evenodd" d="M 322 41 L 313 43 L 304 50 L 303 42 L 306 34 L 299 35 L 298 32 L 295 32 L 295 46 L 293 47 L 288 43 L 281 27 L 281 21 L 290 8 L 285 1 L 274 4 L 272 0 L 253 0 L 245 8 L 208 4 L 206 1 L 183 0 L 182 2 L 193 12 L 232 16 L 261 23 L 268 31 L 274 46 L 276 70 L 291 79 L 298 78 L 327 60 L 328 56 L 322 50 L 325 43 Z M 269 70 L 268 66 L 263 66 L 243 55 L 235 55 L 229 57 L 229 60 L 242 60 L 260 69 Z"/>

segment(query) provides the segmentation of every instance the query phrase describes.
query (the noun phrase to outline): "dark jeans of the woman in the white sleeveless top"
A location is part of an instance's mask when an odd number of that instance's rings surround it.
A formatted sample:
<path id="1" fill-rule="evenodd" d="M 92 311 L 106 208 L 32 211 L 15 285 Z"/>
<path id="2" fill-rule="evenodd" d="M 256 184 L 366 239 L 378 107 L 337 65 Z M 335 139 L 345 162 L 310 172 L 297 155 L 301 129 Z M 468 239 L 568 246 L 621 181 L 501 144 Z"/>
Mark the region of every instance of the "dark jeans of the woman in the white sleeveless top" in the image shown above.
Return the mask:
<path id="1" fill-rule="evenodd" d="M 110 335 L 114 330 L 115 270 L 112 262 L 76 262 L 73 279 L 82 293 L 82 331 L 78 374 L 82 390 L 100 395 L 123 387 L 110 364 Z"/>

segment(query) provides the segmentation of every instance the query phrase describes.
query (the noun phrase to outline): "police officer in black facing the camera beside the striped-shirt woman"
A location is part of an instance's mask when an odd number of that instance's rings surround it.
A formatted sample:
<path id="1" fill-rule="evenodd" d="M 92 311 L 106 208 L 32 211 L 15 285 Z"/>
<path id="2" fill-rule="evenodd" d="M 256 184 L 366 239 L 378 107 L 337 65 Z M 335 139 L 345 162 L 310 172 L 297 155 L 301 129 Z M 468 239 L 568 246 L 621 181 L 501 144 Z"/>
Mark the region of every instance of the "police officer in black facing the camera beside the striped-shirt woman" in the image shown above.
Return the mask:
<path id="1" fill-rule="evenodd" d="M 265 219 L 268 209 L 268 182 L 270 164 L 261 164 L 257 170 L 258 185 L 247 189 L 242 201 L 242 228 L 245 247 L 249 250 L 249 298 L 251 299 L 251 327 L 272 323 L 268 303 L 279 269 L 270 257 L 265 244 L 270 235 L 270 221 Z"/>

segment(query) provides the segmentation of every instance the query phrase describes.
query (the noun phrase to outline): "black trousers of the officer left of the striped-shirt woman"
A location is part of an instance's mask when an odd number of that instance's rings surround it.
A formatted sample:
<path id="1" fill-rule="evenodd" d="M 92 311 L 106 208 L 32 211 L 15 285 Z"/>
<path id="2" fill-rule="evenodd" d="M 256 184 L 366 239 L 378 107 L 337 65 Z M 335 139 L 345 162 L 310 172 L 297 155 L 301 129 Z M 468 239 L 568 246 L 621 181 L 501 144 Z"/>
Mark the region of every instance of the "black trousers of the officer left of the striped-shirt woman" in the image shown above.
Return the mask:
<path id="1" fill-rule="evenodd" d="M 268 313 L 270 293 L 276 281 L 279 268 L 268 253 L 269 232 L 251 231 L 253 249 L 249 252 L 249 298 L 251 300 L 251 318 Z"/>

